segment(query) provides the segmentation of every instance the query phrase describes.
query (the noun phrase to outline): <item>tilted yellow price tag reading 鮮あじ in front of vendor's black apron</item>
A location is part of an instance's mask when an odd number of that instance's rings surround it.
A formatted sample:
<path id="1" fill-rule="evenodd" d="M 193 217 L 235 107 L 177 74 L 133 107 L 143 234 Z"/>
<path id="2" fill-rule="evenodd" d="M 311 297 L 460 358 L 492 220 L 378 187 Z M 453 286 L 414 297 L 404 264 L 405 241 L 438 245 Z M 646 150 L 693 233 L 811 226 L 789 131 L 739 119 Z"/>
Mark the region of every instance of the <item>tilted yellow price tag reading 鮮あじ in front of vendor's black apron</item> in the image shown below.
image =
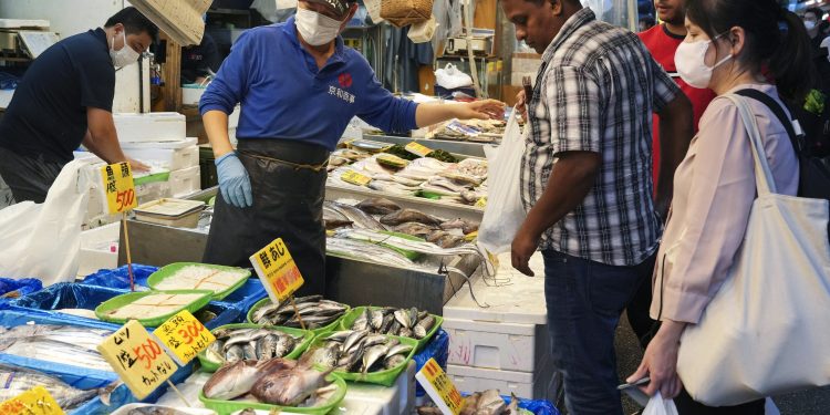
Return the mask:
<path id="1" fill-rule="evenodd" d="M 282 238 L 252 255 L 250 260 L 273 302 L 289 298 L 304 282 Z"/>

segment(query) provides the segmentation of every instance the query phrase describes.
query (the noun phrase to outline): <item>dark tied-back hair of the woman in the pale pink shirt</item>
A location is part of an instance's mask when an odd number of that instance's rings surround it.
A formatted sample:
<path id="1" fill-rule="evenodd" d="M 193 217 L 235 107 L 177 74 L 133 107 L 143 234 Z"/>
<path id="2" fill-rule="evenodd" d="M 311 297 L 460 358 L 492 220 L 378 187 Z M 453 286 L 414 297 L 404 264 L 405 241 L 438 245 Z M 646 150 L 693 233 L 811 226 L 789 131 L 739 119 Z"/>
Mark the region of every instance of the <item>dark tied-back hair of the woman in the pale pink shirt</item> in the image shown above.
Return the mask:
<path id="1" fill-rule="evenodd" d="M 810 38 L 801 19 L 776 0 L 687 0 L 686 17 L 709 38 L 734 27 L 746 32 L 740 61 L 766 69 L 781 97 L 802 102 L 815 85 Z"/>

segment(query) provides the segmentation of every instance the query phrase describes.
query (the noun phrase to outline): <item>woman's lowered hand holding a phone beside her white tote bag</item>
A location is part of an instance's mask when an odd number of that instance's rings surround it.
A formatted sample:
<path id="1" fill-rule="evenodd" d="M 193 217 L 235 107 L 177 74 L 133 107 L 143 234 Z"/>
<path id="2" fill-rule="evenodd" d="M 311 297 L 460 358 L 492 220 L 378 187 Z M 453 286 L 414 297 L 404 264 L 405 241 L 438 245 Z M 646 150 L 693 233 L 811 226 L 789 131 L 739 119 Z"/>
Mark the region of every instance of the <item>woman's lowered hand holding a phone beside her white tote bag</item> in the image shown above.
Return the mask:
<path id="1" fill-rule="evenodd" d="M 645 349 L 640 367 L 625 382 L 631 383 L 649 376 L 651 377 L 649 384 L 641 386 L 646 395 L 653 396 L 660 391 L 666 400 L 677 396 L 683 390 L 683 383 L 677 376 L 677 352 L 685 326 L 685 323 L 663 321 L 657 334 Z"/>

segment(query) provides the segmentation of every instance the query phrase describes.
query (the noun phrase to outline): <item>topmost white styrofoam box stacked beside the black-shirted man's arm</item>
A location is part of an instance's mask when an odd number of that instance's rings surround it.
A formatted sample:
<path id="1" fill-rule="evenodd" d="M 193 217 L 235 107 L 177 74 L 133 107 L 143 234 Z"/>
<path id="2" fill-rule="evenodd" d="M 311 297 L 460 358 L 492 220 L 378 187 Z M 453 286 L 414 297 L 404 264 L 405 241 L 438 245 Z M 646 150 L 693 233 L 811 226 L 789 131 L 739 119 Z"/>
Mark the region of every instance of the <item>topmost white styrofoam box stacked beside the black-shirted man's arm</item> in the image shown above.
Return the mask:
<path id="1" fill-rule="evenodd" d="M 186 137 L 185 116 L 179 113 L 113 114 L 120 142 L 167 142 Z"/>

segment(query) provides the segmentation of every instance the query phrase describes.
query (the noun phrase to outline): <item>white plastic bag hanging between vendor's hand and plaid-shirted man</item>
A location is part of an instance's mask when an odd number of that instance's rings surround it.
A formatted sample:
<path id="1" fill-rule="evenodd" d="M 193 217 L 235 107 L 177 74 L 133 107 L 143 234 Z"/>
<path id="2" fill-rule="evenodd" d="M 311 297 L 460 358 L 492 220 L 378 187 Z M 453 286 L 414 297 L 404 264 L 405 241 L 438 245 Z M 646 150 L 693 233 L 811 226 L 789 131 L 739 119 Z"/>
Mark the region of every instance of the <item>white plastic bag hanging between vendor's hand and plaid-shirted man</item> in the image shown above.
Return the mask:
<path id="1" fill-rule="evenodd" d="M 487 206 L 478 229 L 478 242 L 490 253 L 509 252 L 516 232 L 527 217 L 521 204 L 521 158 L 525 135 L 513 108 L 498 147 L 485 146 L 487 155 Z"/>

